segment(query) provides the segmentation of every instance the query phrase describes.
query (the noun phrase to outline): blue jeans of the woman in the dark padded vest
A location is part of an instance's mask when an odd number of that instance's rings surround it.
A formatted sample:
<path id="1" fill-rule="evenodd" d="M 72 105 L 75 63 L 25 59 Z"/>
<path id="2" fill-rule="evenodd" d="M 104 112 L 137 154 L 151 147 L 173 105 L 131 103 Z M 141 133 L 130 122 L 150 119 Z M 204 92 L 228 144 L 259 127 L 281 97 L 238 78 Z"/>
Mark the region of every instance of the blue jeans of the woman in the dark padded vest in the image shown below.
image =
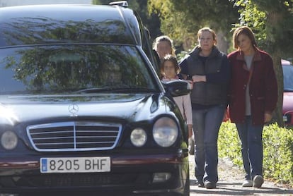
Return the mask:
<path id="1" fill-rule="evenodd" d="M 218 135 L 226 105 L 193 109 L 195 135 L 195 177 L 201 182 L 218 181 Z"/>

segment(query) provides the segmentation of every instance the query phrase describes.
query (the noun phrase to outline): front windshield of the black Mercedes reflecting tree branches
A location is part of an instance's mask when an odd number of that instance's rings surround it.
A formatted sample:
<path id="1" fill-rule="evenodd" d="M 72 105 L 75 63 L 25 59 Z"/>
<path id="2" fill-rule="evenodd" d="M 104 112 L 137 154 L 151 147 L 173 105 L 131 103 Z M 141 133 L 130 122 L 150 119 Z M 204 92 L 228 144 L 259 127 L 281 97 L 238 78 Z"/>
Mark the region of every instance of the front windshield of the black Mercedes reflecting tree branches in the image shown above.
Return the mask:
<path id="1" fill-rule="evenodd" d="M 0 49 L 0 94 L 156 90 L 136 47 L 54 45 Z M 136 91 L 137 92 L 137 91 Z"/>

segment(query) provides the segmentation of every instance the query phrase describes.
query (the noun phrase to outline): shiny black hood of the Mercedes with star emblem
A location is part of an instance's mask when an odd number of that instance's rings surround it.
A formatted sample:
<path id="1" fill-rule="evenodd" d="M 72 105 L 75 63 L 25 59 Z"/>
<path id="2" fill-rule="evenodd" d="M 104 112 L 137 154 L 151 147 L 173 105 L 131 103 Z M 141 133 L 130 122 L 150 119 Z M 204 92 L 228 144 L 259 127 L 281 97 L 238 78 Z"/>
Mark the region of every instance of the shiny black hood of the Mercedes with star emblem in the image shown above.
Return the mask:
<path id="1" fill-rule="evenodd" d="M 48 118 L 120 118 L 131 121 L 166 111 L 161 94 L 1 96 L 0 120 L 10 123 Z"/>

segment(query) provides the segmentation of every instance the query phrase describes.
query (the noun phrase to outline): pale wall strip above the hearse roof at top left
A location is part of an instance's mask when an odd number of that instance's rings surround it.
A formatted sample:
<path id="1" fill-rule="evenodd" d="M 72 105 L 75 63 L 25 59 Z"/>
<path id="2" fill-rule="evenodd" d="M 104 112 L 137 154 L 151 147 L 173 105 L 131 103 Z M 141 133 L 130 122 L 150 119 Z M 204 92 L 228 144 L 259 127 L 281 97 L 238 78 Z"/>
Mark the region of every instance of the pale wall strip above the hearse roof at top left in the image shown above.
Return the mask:
<path id="1" fill-rule="evenodd" d="M 91 4 L 91 0 L 0 0 L 0 7 L 34 4 Z"/>

